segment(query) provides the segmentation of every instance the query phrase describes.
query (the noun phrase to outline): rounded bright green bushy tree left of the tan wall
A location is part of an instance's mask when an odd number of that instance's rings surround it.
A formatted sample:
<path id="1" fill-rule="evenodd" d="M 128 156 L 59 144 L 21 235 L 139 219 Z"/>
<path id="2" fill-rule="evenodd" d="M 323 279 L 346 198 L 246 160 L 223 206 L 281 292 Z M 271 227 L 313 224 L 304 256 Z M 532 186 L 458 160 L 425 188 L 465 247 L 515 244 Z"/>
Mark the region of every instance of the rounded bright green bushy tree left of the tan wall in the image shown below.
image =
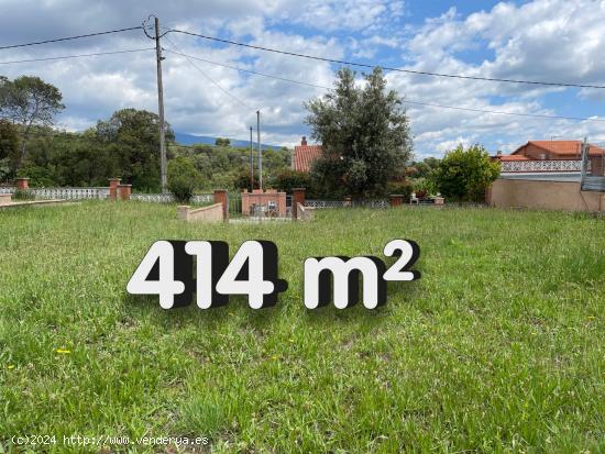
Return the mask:
<path id="1" fill-rule="evenodd" d="M 479 144 L 448 152 L 433 173 L 439 191 L 457 201 L 482 201 L 485 190 L 499 176 L 499 163 Z"/>

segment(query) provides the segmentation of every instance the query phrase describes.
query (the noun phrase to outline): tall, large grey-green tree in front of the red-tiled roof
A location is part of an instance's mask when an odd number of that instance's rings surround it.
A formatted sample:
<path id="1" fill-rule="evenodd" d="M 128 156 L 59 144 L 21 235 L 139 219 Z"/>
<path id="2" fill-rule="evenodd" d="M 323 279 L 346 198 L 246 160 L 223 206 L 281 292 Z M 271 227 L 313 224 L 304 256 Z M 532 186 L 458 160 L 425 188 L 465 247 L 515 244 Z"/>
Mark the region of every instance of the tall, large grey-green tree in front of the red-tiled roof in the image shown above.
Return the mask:
<path id="1" fill-rule="evenodd" d="M 307 124 L 322 144 L 314 177 L 320 187 L 344 185 L 355 196 L 386 191 L 386 184 L 411 155 L 411 134 L 403 100 L 386 90 L 381 68 L 364 75 L 355 86 L 355 73 L 338 71 L 332 92 L 305 104 Z"/>

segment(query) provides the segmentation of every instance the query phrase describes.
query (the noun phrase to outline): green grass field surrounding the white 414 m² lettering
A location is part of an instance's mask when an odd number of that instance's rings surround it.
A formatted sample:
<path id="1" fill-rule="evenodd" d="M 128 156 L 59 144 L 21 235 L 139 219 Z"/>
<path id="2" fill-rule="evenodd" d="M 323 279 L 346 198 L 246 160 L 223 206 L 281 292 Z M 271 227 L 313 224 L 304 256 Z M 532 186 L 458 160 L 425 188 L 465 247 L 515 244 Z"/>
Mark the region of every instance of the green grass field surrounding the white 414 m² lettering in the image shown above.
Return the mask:
<path id="1" fill-rule="evenodd" d="M 605 222 L 487 209 L 185 224 L 174 206 L 0 211 L 0 445 L 208 436 L 212 452 L 605 452 Z M 302 304 L 302 261 L 416 240 L 369 311 Z M 164 311 L 125 285 L 155 240 L 279 247 L 276 307 Z M 387 263 L 393 263 L 388 259 Z M 198 447 L 200 449 L 200 447 Z M 2 450 L 0 450 L 1 452 Z M 111 445 L 105 452 L 190 452 Z"/>

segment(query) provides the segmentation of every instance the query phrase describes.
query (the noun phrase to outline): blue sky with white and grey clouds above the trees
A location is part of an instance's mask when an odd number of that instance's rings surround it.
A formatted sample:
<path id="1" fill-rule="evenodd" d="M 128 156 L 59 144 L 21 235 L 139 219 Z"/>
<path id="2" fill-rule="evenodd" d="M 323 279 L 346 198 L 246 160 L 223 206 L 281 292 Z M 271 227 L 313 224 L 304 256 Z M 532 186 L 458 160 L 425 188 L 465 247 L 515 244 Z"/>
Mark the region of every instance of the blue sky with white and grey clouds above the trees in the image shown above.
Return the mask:
<path id="1" fill-rule="evenodd" d="M 320 57 L 507 79 L 605 85 L 605 1 L 426 0 L 0 0 L 0 46 L 161 25 Z M 157 110 L 153 51 L 52 62 L 7 62 L 152 47 L 142 31 L 0 51 L 0 75 L 36 75 L 57 86 L 63 128 L 84 130 L 121 108 Z M 337 65 L 213 43 L 184 34 L 167 51 L 309 82 L 333 84 Z M 304 101 L 326 90 L 166 52 L 166 119 L 175 131 L 246 139 L 263 112 L 263 142 L 310 135 Z M 590 118 L 535 119 L 407 104 L 418 157 L 458 143 L 510 152 L 527 140 L 605 141 L 605 90 L 508 85 L 387 73 L 408 101 L 479 110 Z M 598 121 L 601 119 L 601 121 Z"/>

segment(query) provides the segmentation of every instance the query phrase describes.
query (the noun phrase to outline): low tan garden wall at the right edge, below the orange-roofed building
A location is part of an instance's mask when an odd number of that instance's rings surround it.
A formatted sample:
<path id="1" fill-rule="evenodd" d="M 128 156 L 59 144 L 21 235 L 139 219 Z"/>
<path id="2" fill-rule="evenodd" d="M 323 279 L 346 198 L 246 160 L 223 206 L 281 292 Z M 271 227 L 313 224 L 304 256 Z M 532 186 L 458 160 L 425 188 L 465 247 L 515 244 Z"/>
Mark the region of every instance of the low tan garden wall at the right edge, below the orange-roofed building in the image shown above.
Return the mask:
<path id="1" fill-rule="evenodd" d="M 498 178 L 488 200 L 492 207 L 540 210 L 605 211 L 605 192 L 581 191 L 579 181 Z"/>

